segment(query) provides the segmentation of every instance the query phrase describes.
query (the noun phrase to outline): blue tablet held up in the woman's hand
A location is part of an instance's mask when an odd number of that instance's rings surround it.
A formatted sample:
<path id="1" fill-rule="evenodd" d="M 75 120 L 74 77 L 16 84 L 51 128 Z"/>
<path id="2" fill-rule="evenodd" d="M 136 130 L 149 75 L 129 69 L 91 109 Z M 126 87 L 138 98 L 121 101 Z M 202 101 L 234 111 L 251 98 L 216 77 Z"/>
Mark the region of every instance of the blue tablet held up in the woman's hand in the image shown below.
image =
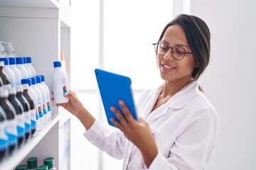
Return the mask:
<path id="1" fill-rule="evenodd" d="M 107 116 L 107 122 L 114 126 L 110 118 L 115 118 L 118 120 L 116 115 L 110 110 L 111 106 L 114 106 L 122 113 L 122 109 L 118 103 L 119 100 L 124 101 L 124 103 L 129 108 L 129 111 L 132 113 L 134 119 L 138 120 L 136 107 L 134 105 L 134 97 L 132 94 L 131 79 L 129 77 L 107 72 L 102 69 L 95 69 L 95 76 Z"/>

